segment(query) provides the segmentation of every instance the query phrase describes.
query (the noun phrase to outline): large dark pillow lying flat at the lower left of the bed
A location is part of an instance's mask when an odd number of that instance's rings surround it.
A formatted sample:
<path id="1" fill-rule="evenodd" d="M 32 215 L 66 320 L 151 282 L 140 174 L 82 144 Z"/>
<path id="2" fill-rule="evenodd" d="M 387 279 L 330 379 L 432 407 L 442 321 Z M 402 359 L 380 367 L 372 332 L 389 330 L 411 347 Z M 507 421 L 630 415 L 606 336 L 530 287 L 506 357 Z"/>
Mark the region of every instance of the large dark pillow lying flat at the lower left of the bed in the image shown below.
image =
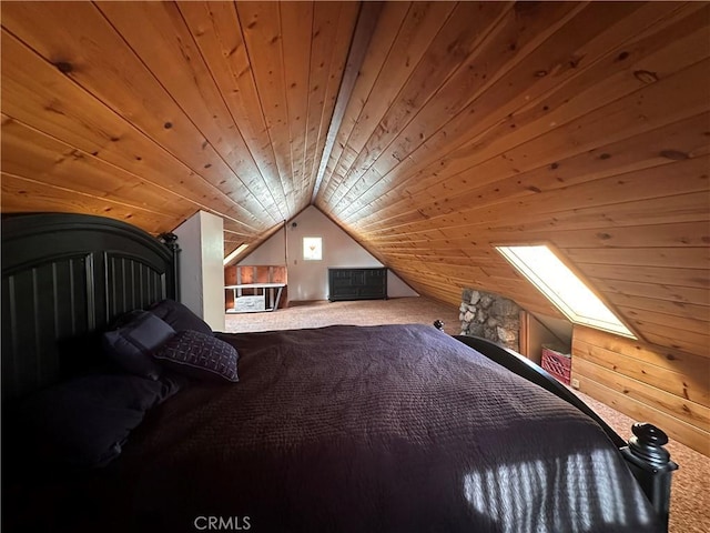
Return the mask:
<path id="1" fill-rule="evenodd" d="M 104 466 L 119 456 L 145 412 L 180 390 L 181 381 L 92 374 L 44 389 L 14 410 L 10 436 L 33 463 Z"/>

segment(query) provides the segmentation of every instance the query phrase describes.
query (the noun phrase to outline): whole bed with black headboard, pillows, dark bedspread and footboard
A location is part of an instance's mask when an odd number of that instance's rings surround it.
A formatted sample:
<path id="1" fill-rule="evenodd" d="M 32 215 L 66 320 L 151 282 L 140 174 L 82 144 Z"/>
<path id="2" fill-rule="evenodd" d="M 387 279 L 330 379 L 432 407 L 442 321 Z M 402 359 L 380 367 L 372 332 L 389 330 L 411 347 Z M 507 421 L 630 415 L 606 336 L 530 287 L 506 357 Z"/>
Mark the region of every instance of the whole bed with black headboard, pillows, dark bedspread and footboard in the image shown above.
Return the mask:
<path id="1" fill-rule="evenodd" d="M 666 531 L 659 430 L 433 325 L 214 333 L 178 257 L 3 219 L 3 531 Z"/>

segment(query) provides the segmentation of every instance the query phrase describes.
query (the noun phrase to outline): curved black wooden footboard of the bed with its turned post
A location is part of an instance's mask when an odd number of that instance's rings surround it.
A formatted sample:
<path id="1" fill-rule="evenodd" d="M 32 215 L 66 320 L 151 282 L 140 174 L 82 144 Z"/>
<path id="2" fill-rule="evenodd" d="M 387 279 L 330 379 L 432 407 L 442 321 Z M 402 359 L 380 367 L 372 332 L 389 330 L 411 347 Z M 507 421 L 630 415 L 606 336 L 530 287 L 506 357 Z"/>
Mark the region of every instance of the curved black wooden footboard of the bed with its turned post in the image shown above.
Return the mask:
<path id="1" fill-rule="evenodd" d="M 440 321 L 436 321 L 434 325 L 439 330 L 443 328 Z M 454 335 L 454 339 L 571 403 L 594 419 L 621 451 L 631 473 L 653 505 L 659 519 L 666 526 L 666 531 L 668 531 L 671 476 L 678 470 L 678 465 L 670 460 L 670 454 L 663 447 L 668 443 L 666 433 L 652 424 L 637 423 L 631 428 L 633 436 L 627 443 L 575 393 L 529 359 L 486 339 L 467 335 Z"/>

